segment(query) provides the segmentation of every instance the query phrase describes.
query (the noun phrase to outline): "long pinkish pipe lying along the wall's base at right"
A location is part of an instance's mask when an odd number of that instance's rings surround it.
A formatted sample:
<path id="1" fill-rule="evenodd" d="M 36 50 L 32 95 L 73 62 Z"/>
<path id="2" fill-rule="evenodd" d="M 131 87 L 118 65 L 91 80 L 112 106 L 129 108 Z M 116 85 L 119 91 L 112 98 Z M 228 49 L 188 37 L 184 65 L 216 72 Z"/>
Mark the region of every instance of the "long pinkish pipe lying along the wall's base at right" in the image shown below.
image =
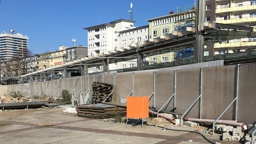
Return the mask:
<path id="1" fill-rule="evenodd" d="M 188 118 L 188 121 L 193 122 L 202 122 L 202 123 L 218 123 L 218 124 L 226 124 L 226 125 L 232 125 L 232 126 L 241 126 L 244 128 L 244 130 L 247 130 L 247 126 L 245 123 L 238 123 L 238 121 L 228 121 L 228 120 L 218 120 L 215 119 L 198 119 L 198 118 Z M 214 127 L 213 127 L 214 130 Z"/>

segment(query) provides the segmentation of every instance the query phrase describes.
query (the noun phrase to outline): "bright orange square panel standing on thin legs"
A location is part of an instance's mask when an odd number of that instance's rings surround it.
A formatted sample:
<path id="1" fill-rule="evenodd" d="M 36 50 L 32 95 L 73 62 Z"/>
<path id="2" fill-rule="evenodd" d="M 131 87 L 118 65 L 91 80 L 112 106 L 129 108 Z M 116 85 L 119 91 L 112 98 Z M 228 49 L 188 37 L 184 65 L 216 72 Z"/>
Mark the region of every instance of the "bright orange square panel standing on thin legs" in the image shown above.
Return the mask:
<path id="1" fill-rule="evenodd" d="M 148 118 L 149 97 L 128 97 L 127 117 Z"/>

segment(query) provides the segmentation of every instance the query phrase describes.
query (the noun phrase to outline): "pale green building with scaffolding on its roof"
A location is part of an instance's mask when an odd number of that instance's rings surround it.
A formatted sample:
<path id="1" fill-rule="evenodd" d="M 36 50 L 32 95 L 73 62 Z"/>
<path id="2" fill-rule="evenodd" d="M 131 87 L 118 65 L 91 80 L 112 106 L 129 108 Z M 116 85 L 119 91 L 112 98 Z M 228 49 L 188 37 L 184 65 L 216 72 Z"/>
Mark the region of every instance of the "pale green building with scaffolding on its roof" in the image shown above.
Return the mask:
<path id="1" fill-rule="evenodd" d="M 149 21 L 149 38 L 156 38 L 161 35 L 172 34 L 174 31 L 180 31 L 187 27 L 195 26 L 195 7 L 191 6 L 189 9 L 180 9 L 175 13 L 170 12 L 169 15 L 148 19 Z M 191 47 L 187 47 L 190 49 Z M 179 54 L 185 53 L 186 50 L 178 52 Z M 149 65 L 162 62 L 170 62 L 176 60 L 177 52 L 169 52 L 150 56 L 148 61 Z"/>

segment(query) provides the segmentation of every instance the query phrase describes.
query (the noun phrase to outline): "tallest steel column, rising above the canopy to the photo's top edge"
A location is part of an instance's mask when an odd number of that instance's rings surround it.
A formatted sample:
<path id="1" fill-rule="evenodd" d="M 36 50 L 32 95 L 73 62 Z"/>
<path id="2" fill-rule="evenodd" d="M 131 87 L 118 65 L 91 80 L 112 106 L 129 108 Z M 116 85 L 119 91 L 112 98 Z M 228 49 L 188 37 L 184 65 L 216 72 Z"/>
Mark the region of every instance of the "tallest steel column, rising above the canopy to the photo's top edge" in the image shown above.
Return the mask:
<path id="1" fill-rule="evenodd" d="M 203 22 L 205 19 L 205 0 L 197 1 L 196 9 L 196 63 L 204 61 Z"/>

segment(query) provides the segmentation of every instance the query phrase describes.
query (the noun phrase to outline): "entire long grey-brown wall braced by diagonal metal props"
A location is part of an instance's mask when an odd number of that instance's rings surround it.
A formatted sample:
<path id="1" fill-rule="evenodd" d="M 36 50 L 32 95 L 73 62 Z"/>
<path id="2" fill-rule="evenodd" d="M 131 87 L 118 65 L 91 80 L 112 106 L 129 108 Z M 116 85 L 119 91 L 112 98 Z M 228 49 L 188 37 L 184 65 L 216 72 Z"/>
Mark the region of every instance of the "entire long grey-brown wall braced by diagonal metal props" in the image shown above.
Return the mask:
<path id="1" fill-rule="evenodd" d="M 239 67 L 238 120 L 247 124 L 256 119 L 256 63 L 243 64 Z M 191 103 L 199 96 L 200 69 L 182 69 L 176 72 L 175 105 L 177 113 L 185 113 Z M 215 119 L 235 97 L 236 66 L 203 68 L 202 75 L 202 118 Z M 132 87 L 133 81 L 133 87 Z M 62 90 L 69 92 L 92 89 L 93 82 L 105 82 L 114 85 L 113 102 L 125 99 L 132 90 L 134 96 L 149 96 L 154 91 L 150 106 L 161 108 L 174 92 L 174 70 L 134 71 L 130 73 L 105 73 L 74 78 L 63 78 L 47 82 L 34 82 L 34 95 L 53 95 L 59 97 Z M 31 92 L 31 85 L 0 85 L 0 94 L 12 91 Z M 76 95 L 78 99 L 78 95 Z M 163 110 L 174 108 L 172 99 Z M 232 105 L 221 119 L 234 119 L 235 105 Z M 198 118 L 199 101 L 185 117 Z"/>

